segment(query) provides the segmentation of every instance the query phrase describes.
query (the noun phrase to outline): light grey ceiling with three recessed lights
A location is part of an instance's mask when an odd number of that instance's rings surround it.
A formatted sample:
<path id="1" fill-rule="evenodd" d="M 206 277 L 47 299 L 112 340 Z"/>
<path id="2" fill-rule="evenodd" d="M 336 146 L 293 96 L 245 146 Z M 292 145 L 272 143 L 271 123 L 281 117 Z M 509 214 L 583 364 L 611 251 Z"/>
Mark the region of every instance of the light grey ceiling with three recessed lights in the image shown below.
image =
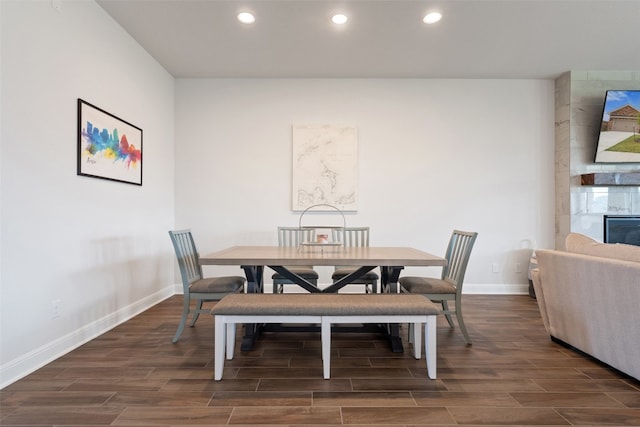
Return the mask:
<path id="1" fill-rule="evenodd" d="M 97 0 L 176 78 L 640 70 L 640 0 Z M 248 10 L 256 22 L 241 24 Z M 425 25 L 428 11 L 443 14 Z M 349 16 L 343 26 L 335 12 Z"/>

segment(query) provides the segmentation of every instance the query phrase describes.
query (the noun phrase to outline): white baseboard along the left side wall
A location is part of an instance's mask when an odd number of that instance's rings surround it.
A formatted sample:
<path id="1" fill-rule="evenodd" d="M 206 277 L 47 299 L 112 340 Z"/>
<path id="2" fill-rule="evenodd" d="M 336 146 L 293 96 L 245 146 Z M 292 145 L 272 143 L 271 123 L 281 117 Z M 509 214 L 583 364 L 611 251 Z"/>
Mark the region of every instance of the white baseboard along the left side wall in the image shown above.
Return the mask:
<path id="1" fill-rule="evenodd" d="M 40 369 L 47 363 L 104 334 L 174 294 L 175 287 L 168 286 L 153 295 L 149 295 L 101 319 L 84 325 L 65 336 L 36 348 L 17 359 L 1 365 L 0 389 Z"/>

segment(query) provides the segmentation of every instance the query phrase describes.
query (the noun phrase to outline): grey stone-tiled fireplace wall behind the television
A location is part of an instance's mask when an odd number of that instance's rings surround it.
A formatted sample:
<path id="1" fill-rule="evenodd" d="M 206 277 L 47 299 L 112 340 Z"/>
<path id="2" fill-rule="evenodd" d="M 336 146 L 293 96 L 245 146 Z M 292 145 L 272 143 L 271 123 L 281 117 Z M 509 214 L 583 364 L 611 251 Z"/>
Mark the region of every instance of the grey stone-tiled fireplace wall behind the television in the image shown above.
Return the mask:
<path id="1" fill-rule="evenodd" d="M 640 187 L 589 187 L 580 175 L 638 172 L 640 164 L 596 164 L 605 92 L 640 90 L 640 71 L 570 71 L 555 82 L 556 249 L 569 232 L 602 240 L 603 215 L 640 214 Z"/>

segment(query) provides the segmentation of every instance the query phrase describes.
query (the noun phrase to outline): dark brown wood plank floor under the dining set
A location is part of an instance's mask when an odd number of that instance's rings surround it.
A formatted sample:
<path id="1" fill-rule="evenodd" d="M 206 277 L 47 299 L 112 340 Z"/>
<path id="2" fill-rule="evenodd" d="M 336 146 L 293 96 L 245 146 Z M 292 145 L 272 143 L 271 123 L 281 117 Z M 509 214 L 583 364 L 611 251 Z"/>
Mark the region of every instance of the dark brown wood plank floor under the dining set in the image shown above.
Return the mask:
<path id="1" fill-rule="evenodd" d="M 323 380 L 318 334 L 267 333 L 216 382 L 213 318 L 173 345 L 180 309 L 172 297 L 6 387 L 1 425 L 640 426 L 640 384 L 551 342 L 528 296 L 465 296 L 472 346 L 440 318 L 437 380 L 408 344 L 351 333 L 333 335 Z"/>

